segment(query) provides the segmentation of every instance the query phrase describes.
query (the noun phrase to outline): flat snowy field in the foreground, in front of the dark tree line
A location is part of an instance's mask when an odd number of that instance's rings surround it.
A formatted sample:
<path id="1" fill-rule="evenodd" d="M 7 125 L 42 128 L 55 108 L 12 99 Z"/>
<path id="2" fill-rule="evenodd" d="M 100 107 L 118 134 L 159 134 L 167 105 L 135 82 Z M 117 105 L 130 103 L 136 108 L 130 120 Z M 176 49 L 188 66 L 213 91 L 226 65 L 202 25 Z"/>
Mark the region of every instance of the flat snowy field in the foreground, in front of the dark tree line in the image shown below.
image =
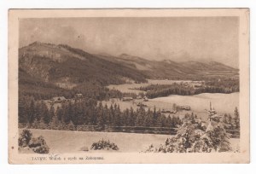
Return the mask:
<path id="1" fill-rule="evenodd" d="M 21 131 L 21 130 L 20 130 Z M 116 132 L 90 132 L 90 131 L 53 131 L 53 130 L 31 130 L 33 136 L 44 136 L 49 146 L 49 153 L 93 153 L 98 152 L 89 150 L 88 152 L 80 151 L 82 147 L 88 147 L 93 142 L 99 140 L 109 140 L 117 144 L 118 152 L 139 153 L 148 148 L 150 144 L 158 146 L 166 141 L 168 135 L 155 134 L 135 134 L 135 133 L 116 133 Z M 230 139 L 232 149 L 236 149 L 239 139 Z"/>

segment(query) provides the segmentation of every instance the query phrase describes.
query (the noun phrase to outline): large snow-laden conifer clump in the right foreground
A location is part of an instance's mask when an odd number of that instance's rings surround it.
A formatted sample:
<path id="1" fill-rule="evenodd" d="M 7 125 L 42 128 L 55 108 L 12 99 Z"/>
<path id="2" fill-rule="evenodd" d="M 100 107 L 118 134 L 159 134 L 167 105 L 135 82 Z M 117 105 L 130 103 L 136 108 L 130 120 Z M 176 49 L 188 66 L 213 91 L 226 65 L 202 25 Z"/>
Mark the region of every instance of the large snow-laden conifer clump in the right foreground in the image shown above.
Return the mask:
<path id="1" fill-rule="evenodd" d="M 229 135 L 221 123 L 211 121 L 205 130 L 200 124 L 193 124 L 191 117 L 188 117 L 183 119 L 176 136 L 167 138 L 159 148 L 149 147 L 146 152 L 210 153 L 230 150 Z"/>

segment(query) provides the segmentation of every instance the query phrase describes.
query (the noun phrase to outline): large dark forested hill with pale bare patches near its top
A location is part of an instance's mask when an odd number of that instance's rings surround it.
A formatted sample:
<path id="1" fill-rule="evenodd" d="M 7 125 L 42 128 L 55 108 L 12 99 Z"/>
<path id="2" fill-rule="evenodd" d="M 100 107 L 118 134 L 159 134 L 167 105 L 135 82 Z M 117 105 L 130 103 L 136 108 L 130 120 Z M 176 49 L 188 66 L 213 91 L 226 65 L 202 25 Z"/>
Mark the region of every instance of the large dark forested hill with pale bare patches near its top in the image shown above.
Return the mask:
<path id="1" fill-rule="evenodd" d="M 106 61 L 67 45 L 33 43 L 19 50 L 19 68 L 32 77 L 54 84 L 122 84 L 125 78 L 145 82 L 131 67 Z"/>

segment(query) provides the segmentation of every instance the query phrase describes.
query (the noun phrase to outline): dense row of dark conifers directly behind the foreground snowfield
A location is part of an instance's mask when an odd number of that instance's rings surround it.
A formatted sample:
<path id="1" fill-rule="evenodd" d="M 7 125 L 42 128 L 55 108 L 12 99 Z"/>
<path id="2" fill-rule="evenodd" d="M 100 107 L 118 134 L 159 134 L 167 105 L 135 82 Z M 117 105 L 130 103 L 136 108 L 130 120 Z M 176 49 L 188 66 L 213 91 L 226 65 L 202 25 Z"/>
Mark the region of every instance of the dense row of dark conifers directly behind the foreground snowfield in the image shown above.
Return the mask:
<path id="1" fill-rule="evenodd" d="M 19 123 L 29 125 L 96 125 L 108 126 L 143 126 L 175 128 L 182 124 L 182 120 L 175 116 L 161 114 L 160 110 L 125 109 L 121 111 L 119 105 L 108 107 L 94 99 L 80 102 L 65 102 L 61 107 L 53 105 L 47 107 L 45 102 L 35 101 L 32 97 L 19 100 Z"/>

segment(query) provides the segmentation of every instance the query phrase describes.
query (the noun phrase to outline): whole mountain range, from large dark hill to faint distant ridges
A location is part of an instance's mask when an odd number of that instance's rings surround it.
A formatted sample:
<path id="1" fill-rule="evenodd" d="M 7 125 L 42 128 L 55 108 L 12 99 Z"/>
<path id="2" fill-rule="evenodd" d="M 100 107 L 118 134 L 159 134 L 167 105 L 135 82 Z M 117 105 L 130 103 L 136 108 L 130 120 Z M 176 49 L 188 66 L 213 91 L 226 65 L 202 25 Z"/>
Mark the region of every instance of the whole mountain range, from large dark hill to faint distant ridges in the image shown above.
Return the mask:
<path id="1" fill-rule="evenodd" d="M 217 61 L 148 61 L 122 54 L 93 55 L 64 44 L 35 42 L 19 49 L 19 85 L 53 85 L 72 89 L 79 84 L 124 84 L 146 82 L 147 78 L 198 79 L 236 76 L 239 70 Z"/>

